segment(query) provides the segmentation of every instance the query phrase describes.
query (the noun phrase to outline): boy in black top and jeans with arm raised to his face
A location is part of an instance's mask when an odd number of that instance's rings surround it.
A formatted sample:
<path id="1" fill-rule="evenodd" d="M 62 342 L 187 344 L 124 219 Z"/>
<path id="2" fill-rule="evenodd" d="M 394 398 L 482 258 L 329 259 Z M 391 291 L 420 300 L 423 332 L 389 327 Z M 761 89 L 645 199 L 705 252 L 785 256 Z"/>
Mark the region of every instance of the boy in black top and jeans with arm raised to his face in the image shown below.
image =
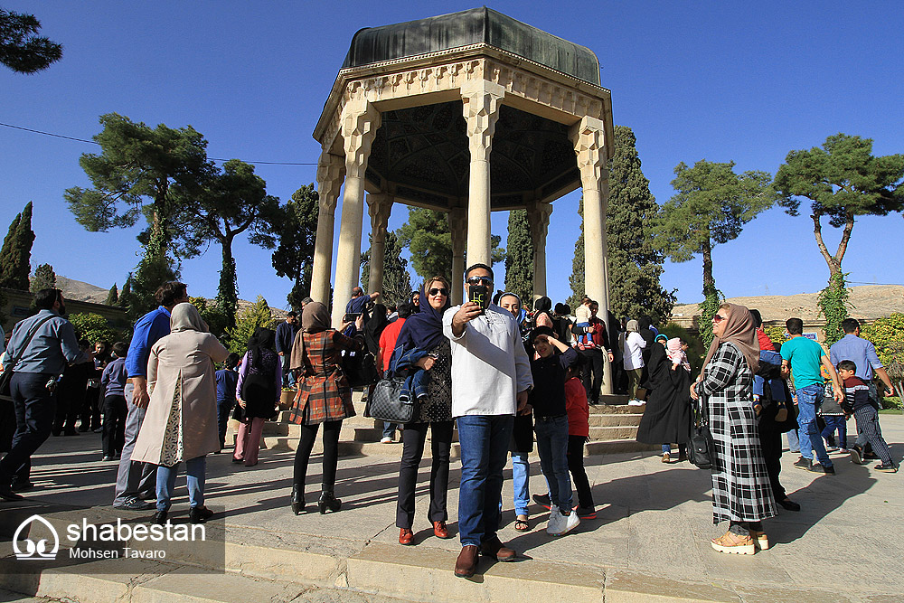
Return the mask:
<path id="1" fill-rule="evenodd" d="M 560 536 L 578 527 L 580 520 L 571 510 L 571 479 L 568 471 L 568 411 L 565 404 L 565 370 L 578 360 L 578 353 L 555 338 L 548 326 L 531 333 L 538 354 L 531 361 L 533 409 L 540 467 L 550 486 L 550 522 L 546 532 Z M 556 350 L 559 353 L 555 353 Z"/>

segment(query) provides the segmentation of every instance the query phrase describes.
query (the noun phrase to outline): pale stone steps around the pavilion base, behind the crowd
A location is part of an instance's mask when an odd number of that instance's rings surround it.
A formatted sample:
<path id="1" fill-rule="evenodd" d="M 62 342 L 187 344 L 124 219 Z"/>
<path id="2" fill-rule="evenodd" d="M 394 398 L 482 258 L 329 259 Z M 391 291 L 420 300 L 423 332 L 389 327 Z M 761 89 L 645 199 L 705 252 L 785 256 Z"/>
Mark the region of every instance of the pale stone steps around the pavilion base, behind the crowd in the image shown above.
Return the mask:
<path id="1" fill-rule="evenodd" d="M 365 402 L 361 391 L 354 391 L 352 400 L 357 414 L 343 422 L 339 436 L 340 456 L 400 457 L 401 446 L 398 442 L 398 434 L 397 441 L 393 444 L 381 444 L 382 421 L 364 417 Z M 626 402 L 627 396 L 604 394 L 600 396 L 600 404 L 590 407 L 590 438 L 584 446 L 586 455 L 636 452 L 659 448 L 636 441 L 637 426 L 640 425 L 645 407 L 628 406 Z M 294 451 L 298 446 L 301 427 L 288 421 L 287 400 L 284 399 L 280 408 L 283 410 L 280 410 L 277 419 L 264 424 L 262 448 Z M 233 433 L 235 428 L 236 424 L 231 421 Z M 456 432 L 452 444 L 453 459 L 459 457 L 457 439 Z M 323 451 L 323 443 L 320 438 L 315 443 L 314 451 L 315 453 Z M 534 448 L 532 455 L 536 456 L 536 454 L 537 451 Z M 429 455 L 430 447 L 427 446 L 424 449 L 424 456 L 429 457 Z"/>

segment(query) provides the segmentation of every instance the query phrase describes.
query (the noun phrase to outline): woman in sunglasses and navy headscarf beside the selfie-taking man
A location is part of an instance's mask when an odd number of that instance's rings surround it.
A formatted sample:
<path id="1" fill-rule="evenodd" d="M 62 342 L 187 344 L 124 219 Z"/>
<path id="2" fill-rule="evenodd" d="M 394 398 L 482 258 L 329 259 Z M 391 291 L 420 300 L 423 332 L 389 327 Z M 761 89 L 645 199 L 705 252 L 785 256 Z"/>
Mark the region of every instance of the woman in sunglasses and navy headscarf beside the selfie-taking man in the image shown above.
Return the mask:
<path id="1" fill-rule="evenodd" d="M 418 484 L 418 467 L 424 456 L 427 429 L 433 453 L 430 468 L 430 508 L 428 519 L 438 538 L 448 538 L 446 501 L 449 481 L 449 453 L 452 448 L 452 353 L 443 335 L 443 313 L 450 306 L 446 278 L 433 277 L 424 282 L 420 292 L 420 312 L 412 314 L 402 326 L 393 366 L 423 374 L 417 380 L 423 389 L 413 392 L 418 400 L 414 419 L 402 431 L 402 454 L 399 468 L 399 501 L 396 526 L 399 543 L 413 544 L 414 491 Z"/>

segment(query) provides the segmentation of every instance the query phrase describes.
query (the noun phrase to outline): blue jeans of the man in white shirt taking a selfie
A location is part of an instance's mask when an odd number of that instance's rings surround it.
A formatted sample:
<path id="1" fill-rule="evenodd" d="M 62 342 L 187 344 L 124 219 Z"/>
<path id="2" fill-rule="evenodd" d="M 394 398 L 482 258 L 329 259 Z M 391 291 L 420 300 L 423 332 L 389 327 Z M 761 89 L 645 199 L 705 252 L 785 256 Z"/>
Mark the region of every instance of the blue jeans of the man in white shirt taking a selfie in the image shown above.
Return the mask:
<path id="1" fill-rule="evenodd" d="M 480 546 L 494 539 L 499 529 L 503 467 L 514 417 L 466 415 L 456 420 L 461 444 L 458 540 L 462 546 Z"/>

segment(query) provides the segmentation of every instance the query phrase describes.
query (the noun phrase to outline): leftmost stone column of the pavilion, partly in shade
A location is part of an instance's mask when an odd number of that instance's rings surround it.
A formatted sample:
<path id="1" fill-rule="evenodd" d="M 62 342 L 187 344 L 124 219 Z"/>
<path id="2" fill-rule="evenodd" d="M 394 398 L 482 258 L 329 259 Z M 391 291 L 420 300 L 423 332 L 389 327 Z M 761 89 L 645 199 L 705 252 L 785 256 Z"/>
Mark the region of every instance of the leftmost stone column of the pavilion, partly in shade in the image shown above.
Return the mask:
<path id="1" fill-rule="evenodd" d="M 314 244 L 314 266 L 311 269 L 311 298 L 330 305 L 330 275 L 333 272 L 333 231 L 336 201 L 345 177 L 345 160 L 324 150 L 317 162 L 317 238 Z"/>

